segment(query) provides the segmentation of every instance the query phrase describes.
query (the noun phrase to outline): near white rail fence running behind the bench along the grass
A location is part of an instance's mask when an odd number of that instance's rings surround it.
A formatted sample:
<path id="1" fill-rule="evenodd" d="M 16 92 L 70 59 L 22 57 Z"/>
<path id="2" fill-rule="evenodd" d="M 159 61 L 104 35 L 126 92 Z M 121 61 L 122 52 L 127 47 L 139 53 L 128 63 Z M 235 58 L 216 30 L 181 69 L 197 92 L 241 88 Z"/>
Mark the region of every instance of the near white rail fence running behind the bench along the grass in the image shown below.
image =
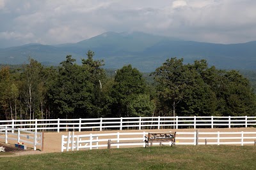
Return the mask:
<path id="1" fill-rule="evenodd" d="M 143 146 L 148 132 L 84 134 L 61 136 L 61 152 L 64 150 L 81 150 L 107 148 L 108 140 L 114 142 L 111 146 Z M 255 145 L 256 132 L 177 132 L 175 145 Z M 153 143 L 159 145 L 159 142 Z M 167 142 L 163 145 L 172 145 Z"/>

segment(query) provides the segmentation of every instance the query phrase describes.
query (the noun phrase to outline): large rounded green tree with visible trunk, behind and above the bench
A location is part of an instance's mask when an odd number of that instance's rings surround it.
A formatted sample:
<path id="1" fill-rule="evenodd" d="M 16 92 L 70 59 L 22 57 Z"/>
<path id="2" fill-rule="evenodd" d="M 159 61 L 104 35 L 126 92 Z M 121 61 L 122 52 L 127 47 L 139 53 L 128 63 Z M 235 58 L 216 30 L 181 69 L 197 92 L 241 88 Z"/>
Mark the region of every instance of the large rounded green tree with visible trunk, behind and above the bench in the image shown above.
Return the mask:
<path id="1" fill-rule="evenodd" d="M 152 75 L 157 82 L 161 108 L 172 110 L 175 117 L 176 106 L 186 96 L 186 89 L 191 81 L 188 67 L 183 64 L 183 59 L 172 58 L 166 60 Z"/>

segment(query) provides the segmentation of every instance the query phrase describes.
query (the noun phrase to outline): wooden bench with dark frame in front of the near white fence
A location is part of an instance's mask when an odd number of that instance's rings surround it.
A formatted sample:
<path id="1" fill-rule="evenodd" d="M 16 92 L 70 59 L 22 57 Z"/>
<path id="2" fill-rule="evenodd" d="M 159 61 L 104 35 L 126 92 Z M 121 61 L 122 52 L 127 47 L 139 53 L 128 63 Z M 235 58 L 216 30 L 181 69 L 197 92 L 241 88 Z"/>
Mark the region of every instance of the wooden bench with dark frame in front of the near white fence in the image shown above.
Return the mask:
<path id="1" fill-rule="evenodd" d="M 148 136 L 145 136 L 145 147 L 152 146 L 152 143 L 160 143 L 162 142 L 171 142 L 172 145 L 175 145 L 175 136 L 176 132 L 149 132 Z"/>

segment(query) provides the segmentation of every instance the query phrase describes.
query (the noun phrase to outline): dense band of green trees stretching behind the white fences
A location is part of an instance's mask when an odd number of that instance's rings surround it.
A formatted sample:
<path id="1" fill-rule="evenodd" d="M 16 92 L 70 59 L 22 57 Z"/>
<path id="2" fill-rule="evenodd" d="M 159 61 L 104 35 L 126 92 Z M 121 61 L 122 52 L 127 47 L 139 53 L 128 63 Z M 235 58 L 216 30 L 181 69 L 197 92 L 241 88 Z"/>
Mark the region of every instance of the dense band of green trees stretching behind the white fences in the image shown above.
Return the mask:
<path id="1" fill-rule="evenodd" d="M 167 59 L 150 81 L 131 64 L 106 71 L 89 50 L 58 67 L 29 58 L 0 67 L 0 120 L 152 116 L 255 116 L 252 84 L 239 71 Z"/>

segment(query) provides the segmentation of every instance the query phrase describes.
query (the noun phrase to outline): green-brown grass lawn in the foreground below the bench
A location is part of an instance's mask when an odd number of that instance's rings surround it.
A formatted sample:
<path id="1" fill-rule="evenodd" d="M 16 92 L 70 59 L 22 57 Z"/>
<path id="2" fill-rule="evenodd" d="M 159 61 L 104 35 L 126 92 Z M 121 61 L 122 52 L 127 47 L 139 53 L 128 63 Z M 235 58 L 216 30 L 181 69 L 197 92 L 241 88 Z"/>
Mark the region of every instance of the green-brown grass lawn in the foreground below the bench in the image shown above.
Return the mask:
<path id="1" fill-rule="evenodd" d="M 0 169 L 255 169 L 254 146 L 154 146 L 0 157 Z"/>

